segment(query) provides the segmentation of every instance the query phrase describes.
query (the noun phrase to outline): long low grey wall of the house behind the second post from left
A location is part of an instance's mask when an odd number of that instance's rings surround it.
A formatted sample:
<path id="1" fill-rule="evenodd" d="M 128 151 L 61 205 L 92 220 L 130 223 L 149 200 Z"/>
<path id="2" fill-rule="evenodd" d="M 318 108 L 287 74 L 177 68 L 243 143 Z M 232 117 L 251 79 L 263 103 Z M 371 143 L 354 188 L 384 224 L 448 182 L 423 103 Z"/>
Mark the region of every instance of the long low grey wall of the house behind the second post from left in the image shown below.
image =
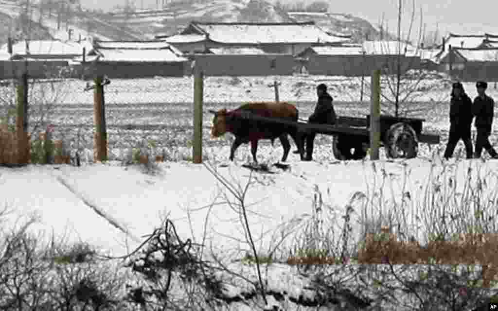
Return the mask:
<path id="1" fill-rule="evenodd" d="M 150 77 L 182 77 L 185 74 L 185 63 L 126 63 L 126 62 L 99 62 L 97 65 L 80 66 L 80 76 L 83 79 L 93 79 L 98 74 L 108 78 L 135 79 Z"/>

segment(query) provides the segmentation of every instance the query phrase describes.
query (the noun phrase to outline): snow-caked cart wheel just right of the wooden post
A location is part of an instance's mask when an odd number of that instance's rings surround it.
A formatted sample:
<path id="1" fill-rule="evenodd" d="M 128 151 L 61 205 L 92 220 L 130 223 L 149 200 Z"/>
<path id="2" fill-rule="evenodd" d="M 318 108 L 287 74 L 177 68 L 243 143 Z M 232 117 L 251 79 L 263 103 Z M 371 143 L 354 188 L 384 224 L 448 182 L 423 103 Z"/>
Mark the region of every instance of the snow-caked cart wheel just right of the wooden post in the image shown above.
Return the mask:
<path id="1" fill-rule="evenodd" d="M 418 139 L 415 130 L 406 123 L 391 125 L 385 137 L 386 155 L 389 158 L 412 159 L 417 156 Z"/>

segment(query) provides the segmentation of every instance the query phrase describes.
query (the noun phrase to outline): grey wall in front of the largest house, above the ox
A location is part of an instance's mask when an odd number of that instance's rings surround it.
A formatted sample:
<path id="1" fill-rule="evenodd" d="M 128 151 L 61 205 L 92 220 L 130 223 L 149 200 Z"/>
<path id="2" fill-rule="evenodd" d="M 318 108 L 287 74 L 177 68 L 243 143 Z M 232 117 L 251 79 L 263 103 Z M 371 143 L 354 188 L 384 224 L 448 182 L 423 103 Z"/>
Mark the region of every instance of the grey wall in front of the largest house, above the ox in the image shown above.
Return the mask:
<path id="1" fill-rule="evenodd" d="M 207 76 L 292 75 L 292 55 L 195 55 L 196 66 Z M 272 69 L 271 63 L 275 65 Z M 188 69 L 187 72 L 190 70 Z"/>

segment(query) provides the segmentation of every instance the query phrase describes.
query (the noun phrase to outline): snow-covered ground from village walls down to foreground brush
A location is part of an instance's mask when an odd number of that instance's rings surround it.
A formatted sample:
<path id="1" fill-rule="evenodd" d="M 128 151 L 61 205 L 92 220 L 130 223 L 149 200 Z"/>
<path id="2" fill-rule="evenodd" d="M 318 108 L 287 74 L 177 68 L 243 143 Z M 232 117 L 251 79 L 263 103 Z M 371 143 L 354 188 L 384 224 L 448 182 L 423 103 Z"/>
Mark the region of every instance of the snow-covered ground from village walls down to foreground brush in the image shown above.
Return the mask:
<path id="1" fill-rule="evenodd" d="M 300 109 L 300 117 L 306 118 L 312 112 L 316 101 L 314 88 L 318 83 L 329 86 L 339 115 L 362 116 L 368 113 L 369 95 L 365 95 L 364 103 L 358 102 L 359 79 L 312 76 L 208 77 L 204 84 L 204 109 L 272 101 L 273 89 L 267 85 L 274 79 L 282 83 L 280 99 L 295 103 Z M 54 137 L 66 135 L 75 138 L 77 128 L 83 128 L 80 135 L 85 136 L 87 142 L 84 145 L 90 152 L 93 93 L 83 92 L 84 83 L 80 81 L 65 81 L 53 89 L 47 85 L 48 82 L 45 85 L 48 93 L 64 95 L 57 100 L 51 113 L 50 122 L 56 125 Z M 474 97 L 473 84 L 465 84 L 465 87 Z M 37 85 L 36 88 L 41 87 Z M 450 91 L 448 82 L 427 80 L 423 81 L 422 88 L 427 90 L 418 99 L 422 103 L 412 104 L 423 108 L 416 116 L 427 119 L 424 128 L 440 134 L 442 143 L 439 147 L 444 147 L 449 127 L 448 104 L 444 102 Z M 227 200 L 233 203 L 234 198 L 209 168 L 229 182 L 239 184 L 242 189 L 250 176 L 251 186 L 245 203 L 256 247 L 262 254 L 275 249 L 276 258 L 283 261 L 289 250 L 299 244 L 296 239 L 302 237 L 306 225 L 316 217 L 323 219 L 323 228 L 329 228 L 329 234 L 340 240 L 344 215 L 352 208 L 353 245 L 361 241 L 365 222 L 377 223 L 381 214 L 385 217 L 391 212 L 403 233 L 425 243 L 428 232 L 432 230 L 431 219 L 438 217 L 428 214 L 430 206 L 445 206 L 453 214 L 464 210 L 467 215 L 475 214 L 475 205 L 459 205 L 456 198 L 467 198 L 469 185 L 473 189 L 478 187 L 475 184 L 478 177 L 485 181 L 479 186 L 481 199 L 483 202 L 491 200 L 485 205 L 485 213 L 491 215 L 498 204 L 496 197 L 493 199 L 498 162 L 452 160 L 445 164 L 440 159 L 441 151 L 429 150 L 424 145 L 419 148 L 419 157 L 412 160 L 387 161 L 381 152 L 379 161 L 367 158 L 365 161 L 341 162 L 332 155 L 332 138 L 318 135 L 315 161 L 300 162 L 296 155 L 290 154 L 289 169 L 284 170 L 271 167 L 281 158 L 279 142 L 276 141 L 274 147 L 268 142 L 260 142 L 258 159 L 261 163 L 268 163 L 271 172 L 250 173 L 242 166 L 249 158 L 248 145 L 242 145 L 237 150 L 236 161 L 229 162 L 233 138 L 211 138 L 212 116 L 208 113 L 204 114 L 203 120 L 206 166 L 192 164 L 191 78 L 113 80 L 105 91 L 109 148 L 111 154 L 115 154 L 114 158 L 124 159 L 129 148 L 139 147 L 143 140 L 154 140 L 157 149 L 165 150 L 169 160 L 157 164 L 156 174 L 146 174 L 142 166 L 123 165 L 119 161 L 84 163 L 81 167 L 29 165 L 19 169 L 0 168 L 2 204 L 13 210 L 7 215 L 7 226 L 12 226 L 19 217 L 37 213 L 41 221 L 32 229 L 39 230 L 44 236 L 53 232 L 70 242 L 89 242 L 103 252 L 118 256 L 139 246 L 143 236 L 161 226 L 161 219 L 168 217 L 182 238 L 201 242 L 205 237 L 205 244 L 212 244 L 216 252 L 231 260 L 240 259 L 249 251 L 240 211 L 237 206 L 227 204 Z M 2 92 L 9 90 L 3 88 Z M 492 84 L 488 93 L 497 99 L 498 93 Z M 491 140 L 492 143 L 496 141 L 494 137 Z M 292 148 L 294 150 L 294 146 Z M 459 153 L 458 148 L 455 155 Z M 156 152 L 160 153 L 159 150 Z M 470 182 L 468 172 L 472 177 Z M 441 201 L 434 201 L 431 205 L 430 196 L 435 187 L 443 189 Z M 285 265 L 269 268 L 265 277 L 275 290 L 283 287 L 288 293 L 298 282 L 296 272 Z M 299 286 L 304 288 L 303 281 L 299 282 Z M 245 310 L 241 308 L 234 310 Z"/>

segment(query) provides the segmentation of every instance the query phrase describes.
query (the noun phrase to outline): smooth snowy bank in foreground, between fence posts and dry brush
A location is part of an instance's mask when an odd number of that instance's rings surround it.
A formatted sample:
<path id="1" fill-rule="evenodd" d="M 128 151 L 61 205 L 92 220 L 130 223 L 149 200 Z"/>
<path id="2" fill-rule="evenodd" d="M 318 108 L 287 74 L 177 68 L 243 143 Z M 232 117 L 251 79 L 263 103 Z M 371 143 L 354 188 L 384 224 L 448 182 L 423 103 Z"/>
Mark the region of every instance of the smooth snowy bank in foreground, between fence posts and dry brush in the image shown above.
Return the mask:
<path id="1" fill-rule="evenodd" d="M 435 179 L 442 169 L 437 159 L 432 162 L 413 159 L 375 164 L 369 161 L 303 163 L 292 159 L 288 164 L 291 166 L 288 171 L 273 168 L 274 174 L 252 174 L 253 185 L 247 193 L 246 204 L 251 210 L 250 225 L 263 252 L 271 248 L 282 234 L 289 233 L 283 227 L 285 224 L 289 225 L 293 219 L 304 220 L 306 215 L 313 214 L 313 196 L 318 192 L 322 194 L 324 213 L 330 213 L 337 221 L 334 224 L 337 225 L 337 237 L 344 224 L 341 216 L 346 207 L 352 206 L 355 211 L 351 223 L 358 240 L 361 233 L 359 217 L 368 205 L 353 199 L 358 198 L 359 193 L 372 197 L 382 189 L 386 200 L 384 212 L 393 203 L 400 204 L 403 192 L 410 193 L 411 201 L 405 202 L 409 209 L 406 210 L 407 217 L 410 220 L 415 219 L 415 214 L 421 217 L 424 200 L 428 199 L 424 193 L 427 178 L 432 173 Z M 36 212 L 43 223 L 39 229 L 45 230 L 46 234 L 53 230 L 65 234 L 70 241 L 87 241 L 114 255 L 126 252 L 125 243 L 131 249 L 138 246 L 140 236 L 160 226 L 161 216 L 166 215 L 176 224 L 180 236 L 193 235 L 200 241 L 206 228 L 208 241 L 214 243 L 215 249 L 244 248 L 239 242 L 245 238 L 238 213 L 228 204 L 220 204 L 224 201 L 221 196 L 224 192 L 230 201 L 233 198 L 206 167 L 188 162 L 158 165 L 162 173 L 157 176 L 145 175 L 138 167 L 123 167 L 116 162 L 79 168 L 68 165 L 1 168 L 2 205 L 14 209 L 10 215 L 12 221 L 18 216 Z M 228 166 L 211 165 L 230 182 L 244 186 L 248 181 L 250 171 L 241 167 L 240 162 Z M 434 165 L 436 167 L 432 167 Z M 497 183 L 498 162 L 461 161 L 457 167 L 457 193 L 463 191 L 469 167 L 479 171 L 482 177 L 487 175 L 488 185 Z M 384 179 L 383 174 L 389 177 Z M 86 206 L 64 184 L 98 207 L 105 217 Z M 22 195 L 26 193 L 29 196 Z M 208 208 L 210 205 L 213 206 Z M 118 223 L 129 234 L 114 227 L 106 218 Z M 411 233 L 414 236 L 420 234 L 418 239 L 423 241 L 424 224 L 407 222 L 407 225 Z M 414 229 L 416 227 L 418 230 Z M 299 233 L 298 228 L 296 224 L 287 230 Z M 291 240 L 289 237 L 287 242 Z"/>

